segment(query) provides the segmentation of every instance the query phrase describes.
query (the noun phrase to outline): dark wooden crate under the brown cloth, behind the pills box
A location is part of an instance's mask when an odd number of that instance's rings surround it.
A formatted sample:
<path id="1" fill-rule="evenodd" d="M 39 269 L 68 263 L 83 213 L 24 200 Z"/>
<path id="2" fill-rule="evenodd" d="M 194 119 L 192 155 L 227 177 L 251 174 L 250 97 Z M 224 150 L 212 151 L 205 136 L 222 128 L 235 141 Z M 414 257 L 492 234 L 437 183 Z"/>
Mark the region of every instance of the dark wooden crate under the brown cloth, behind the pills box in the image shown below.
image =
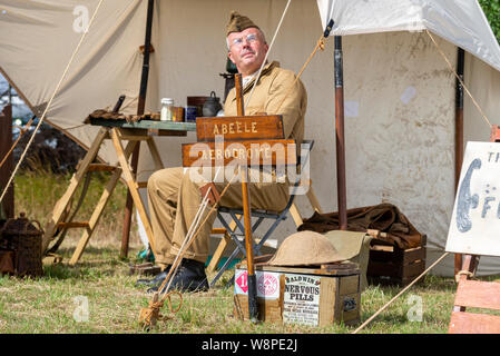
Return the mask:
<path id="1" fill-rule="evenodd" d="M 401 249 L 375 241 L 370 248 L 366 278 L 370 284 L 406 286 L 425 270 L 427 236 L 421 246 Z"/>

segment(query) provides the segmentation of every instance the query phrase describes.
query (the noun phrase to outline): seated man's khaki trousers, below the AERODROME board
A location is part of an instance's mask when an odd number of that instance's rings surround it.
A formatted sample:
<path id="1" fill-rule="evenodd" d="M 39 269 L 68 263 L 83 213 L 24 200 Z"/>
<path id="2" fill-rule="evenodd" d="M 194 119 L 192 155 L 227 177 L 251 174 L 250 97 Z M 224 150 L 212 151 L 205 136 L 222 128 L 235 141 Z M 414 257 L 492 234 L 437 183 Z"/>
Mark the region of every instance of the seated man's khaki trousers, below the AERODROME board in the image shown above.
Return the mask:
<path id="1" fill-rule="evenodd" d="M 160 266 L 171 265 L 179 253 L 183 241 L 202 205 L 199 188 L 206 181 L 196 182 L 190 178 L 189 169 L 183 167 L 166 168 L 156 171 L 148 180 L 148 204 L 155 244 L 155 260 Z M 227 182 L 216 182 L 219 192 Z M 251 207 L 281 211 L 288 201 L 288 184 L 249 182 Z M 242 207 L 242 184 L 234 182 L 220 199 L 220 206 Z M 205 220 L 210 206 L 207 206 L 200 221 Z M 205 263 L 209 253 L 209 236 L 216 218 L 214 211 L 202 226 L 198 236 L 184 255 L 185 258 Z"/>

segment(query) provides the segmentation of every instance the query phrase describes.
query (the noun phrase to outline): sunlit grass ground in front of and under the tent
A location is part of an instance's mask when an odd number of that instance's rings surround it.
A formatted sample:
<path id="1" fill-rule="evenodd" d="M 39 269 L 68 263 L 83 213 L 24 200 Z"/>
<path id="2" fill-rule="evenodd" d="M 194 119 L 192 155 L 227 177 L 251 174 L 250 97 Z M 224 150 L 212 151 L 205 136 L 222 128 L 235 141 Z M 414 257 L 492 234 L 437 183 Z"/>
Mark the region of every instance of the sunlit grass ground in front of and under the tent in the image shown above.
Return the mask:
<path id="1" fill-rule="evenodd" d="M 68 179 L 48 174 L 18 176 L 17 212 L 26 211 L 43 225 Z M 88 199 L 92 201 L 100 194 L 99 179 L 90 187 Z M 137 276 L 129 275 L 129 264 L 136 261 L 135 256 L 143 247 L 134 225 L 130 258 L 119 258 L 125 192 L 125 187 L 119 185 L 77 266 L 45 266 L 45 276 L 38 279 L 0 277 L 0 333 L 144 333 L 138 323 L 139 310 L 148 305 L 151 296 L 135 286 Z M 84 205 L 81 214 L 88 216 L 90 209 Z M 63 261 L 71 257 L 78 238 L 79 234 L 69 234 L 62 243 L 58 254 Z M 171 314 L 165 307 L 166 319 L 151 333 L 349 334 L 355 329 L 344 325 L 317 328 L 238 320 L 233 317 L 233 287 L 225 286 L 231 277 L 232 271 L 227 271 L 207 293 L 184 294 L 179 312 Z M 447 333 L 455 288 L 452 278 L 427 276 L 361 333 Z M 371 317 L 400 290 L 400 287 L 369 286 L 362 294 L 361 320 Z M 178 303 L 174 300 L 175 305 Z"/>

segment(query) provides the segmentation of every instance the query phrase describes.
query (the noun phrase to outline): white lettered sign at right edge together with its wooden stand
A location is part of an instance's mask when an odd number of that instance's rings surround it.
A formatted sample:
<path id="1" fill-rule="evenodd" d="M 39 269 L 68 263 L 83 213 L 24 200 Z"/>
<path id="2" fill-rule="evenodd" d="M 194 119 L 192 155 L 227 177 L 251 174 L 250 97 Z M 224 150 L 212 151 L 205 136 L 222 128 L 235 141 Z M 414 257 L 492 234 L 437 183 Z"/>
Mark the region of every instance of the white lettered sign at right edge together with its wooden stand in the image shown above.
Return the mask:
<path id="1" fill-rule="evenodd" d="M 451 334 L 500 334 L 500 316 L 465 308 L 500 310 L 500 284 L 471 280 L 480 256 L 500 257 L 500 131 L 490 142 L 469 142 L 460 175 L 447 251 L 463 254 L 451 314 Z"/>

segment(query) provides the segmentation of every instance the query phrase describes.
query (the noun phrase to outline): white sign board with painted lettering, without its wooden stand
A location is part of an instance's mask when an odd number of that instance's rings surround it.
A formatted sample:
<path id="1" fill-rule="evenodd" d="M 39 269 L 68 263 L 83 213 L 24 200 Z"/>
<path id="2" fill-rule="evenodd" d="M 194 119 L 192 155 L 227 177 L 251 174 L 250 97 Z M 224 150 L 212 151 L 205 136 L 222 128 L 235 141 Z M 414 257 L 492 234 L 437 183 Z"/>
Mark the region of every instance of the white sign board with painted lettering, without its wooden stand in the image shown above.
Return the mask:
<path id="1" fill-rule="evenodd" d="M 500 144 L 468 142 L 447 251 L 500 256 Z"/>

